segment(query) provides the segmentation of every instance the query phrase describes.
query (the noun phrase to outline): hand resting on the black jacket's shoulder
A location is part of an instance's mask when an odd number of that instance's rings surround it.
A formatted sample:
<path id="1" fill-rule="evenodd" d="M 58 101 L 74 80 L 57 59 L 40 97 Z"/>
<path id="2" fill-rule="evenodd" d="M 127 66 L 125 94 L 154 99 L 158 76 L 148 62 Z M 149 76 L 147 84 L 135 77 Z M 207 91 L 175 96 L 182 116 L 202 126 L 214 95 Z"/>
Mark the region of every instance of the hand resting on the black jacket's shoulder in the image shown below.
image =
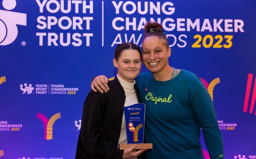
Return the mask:
<path id="1" fill-rule="evenodd" d="M 93 92 L 100 91 L 101 93 L 108 92 L 109 91 L 109 86 L 108 86 L 108 78 L 104 75 L 96 76 L 92 83 L 91 83 L 91 88 Z"/>

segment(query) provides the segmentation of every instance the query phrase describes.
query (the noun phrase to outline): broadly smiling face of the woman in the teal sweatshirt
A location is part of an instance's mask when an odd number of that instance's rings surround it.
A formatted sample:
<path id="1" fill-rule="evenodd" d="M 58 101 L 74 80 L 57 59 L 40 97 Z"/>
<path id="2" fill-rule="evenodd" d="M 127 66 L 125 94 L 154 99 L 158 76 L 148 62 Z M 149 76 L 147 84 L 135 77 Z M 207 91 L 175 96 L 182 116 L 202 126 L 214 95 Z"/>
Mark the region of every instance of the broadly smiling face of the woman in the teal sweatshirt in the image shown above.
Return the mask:
<path id="1" fill-rule="evenodd" d="M 142 43 L 142 61 L 147 69 L 154 74 L 169 72 L 168 58 L 171 48 L 166 47 L 166 42 L 157 36 L 148 36 Z"/>

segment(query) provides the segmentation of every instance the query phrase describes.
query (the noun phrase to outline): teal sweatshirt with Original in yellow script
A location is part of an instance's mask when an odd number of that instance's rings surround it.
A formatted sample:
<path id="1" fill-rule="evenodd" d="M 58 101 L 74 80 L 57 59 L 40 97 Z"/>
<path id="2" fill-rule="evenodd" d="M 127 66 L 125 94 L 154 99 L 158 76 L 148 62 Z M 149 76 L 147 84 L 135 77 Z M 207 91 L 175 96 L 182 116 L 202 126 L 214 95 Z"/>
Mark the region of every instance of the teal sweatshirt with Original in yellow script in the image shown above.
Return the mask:
<path id="1" fill-rule="evenodd" d="M 136 79 L 146 103 L 145 137 L 153 143 L 147 159 L 204 159 L 200 128 L 211 159 L 223 159 L 223 143 L 213 102 L 199 77 L 181 70 L 168 81 L 151 72 Z"/>

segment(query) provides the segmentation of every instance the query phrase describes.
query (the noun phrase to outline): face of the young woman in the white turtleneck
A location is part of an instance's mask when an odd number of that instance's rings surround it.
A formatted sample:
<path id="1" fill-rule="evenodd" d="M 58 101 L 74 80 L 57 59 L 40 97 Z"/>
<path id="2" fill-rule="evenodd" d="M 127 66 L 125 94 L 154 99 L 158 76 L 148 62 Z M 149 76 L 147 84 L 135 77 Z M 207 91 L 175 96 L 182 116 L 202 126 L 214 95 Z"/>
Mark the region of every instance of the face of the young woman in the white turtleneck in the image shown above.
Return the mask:
<path id="1" fill-rule="evenodd" d="M 134 79 L 140 74 L 140 52 L 135 49 L 126 49 L 121 52 L 118 59 L 113 59 L 113 64 L 117 68 L 117 74 L 121 79 L 133 83 Z"/>

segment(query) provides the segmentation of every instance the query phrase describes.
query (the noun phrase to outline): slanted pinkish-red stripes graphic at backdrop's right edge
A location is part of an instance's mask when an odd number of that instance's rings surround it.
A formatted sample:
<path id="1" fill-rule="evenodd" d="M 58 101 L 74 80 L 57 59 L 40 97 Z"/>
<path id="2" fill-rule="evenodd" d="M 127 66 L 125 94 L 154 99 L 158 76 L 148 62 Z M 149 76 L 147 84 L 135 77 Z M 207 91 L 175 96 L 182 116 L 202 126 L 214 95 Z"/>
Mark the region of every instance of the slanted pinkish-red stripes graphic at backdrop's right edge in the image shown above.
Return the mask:
<path id="1" fill-rule="evenodd" d="M 252 88 L 252 81 L 253 81 L 253 74 L 249 73 L 248 79 L 247 79 L 245 98 L 244 98 L 243 112 L 247 112 L 247 110 L 248 110 L 248 103 L 249 103 L 249 98 L 250 98 L 250 93 L 251 93 L 251 88 Z M 256 101 L 256 78 L 254 80 L 254 86 L 253 86 L 253 90 L 252 90 L 251 103 L 250 103 L 250 109 L 249 109 L 250 114 L 253 113 L 255 101 Z M 256 115 L 256 111 L 255 111 L 254 115 Z"/>

